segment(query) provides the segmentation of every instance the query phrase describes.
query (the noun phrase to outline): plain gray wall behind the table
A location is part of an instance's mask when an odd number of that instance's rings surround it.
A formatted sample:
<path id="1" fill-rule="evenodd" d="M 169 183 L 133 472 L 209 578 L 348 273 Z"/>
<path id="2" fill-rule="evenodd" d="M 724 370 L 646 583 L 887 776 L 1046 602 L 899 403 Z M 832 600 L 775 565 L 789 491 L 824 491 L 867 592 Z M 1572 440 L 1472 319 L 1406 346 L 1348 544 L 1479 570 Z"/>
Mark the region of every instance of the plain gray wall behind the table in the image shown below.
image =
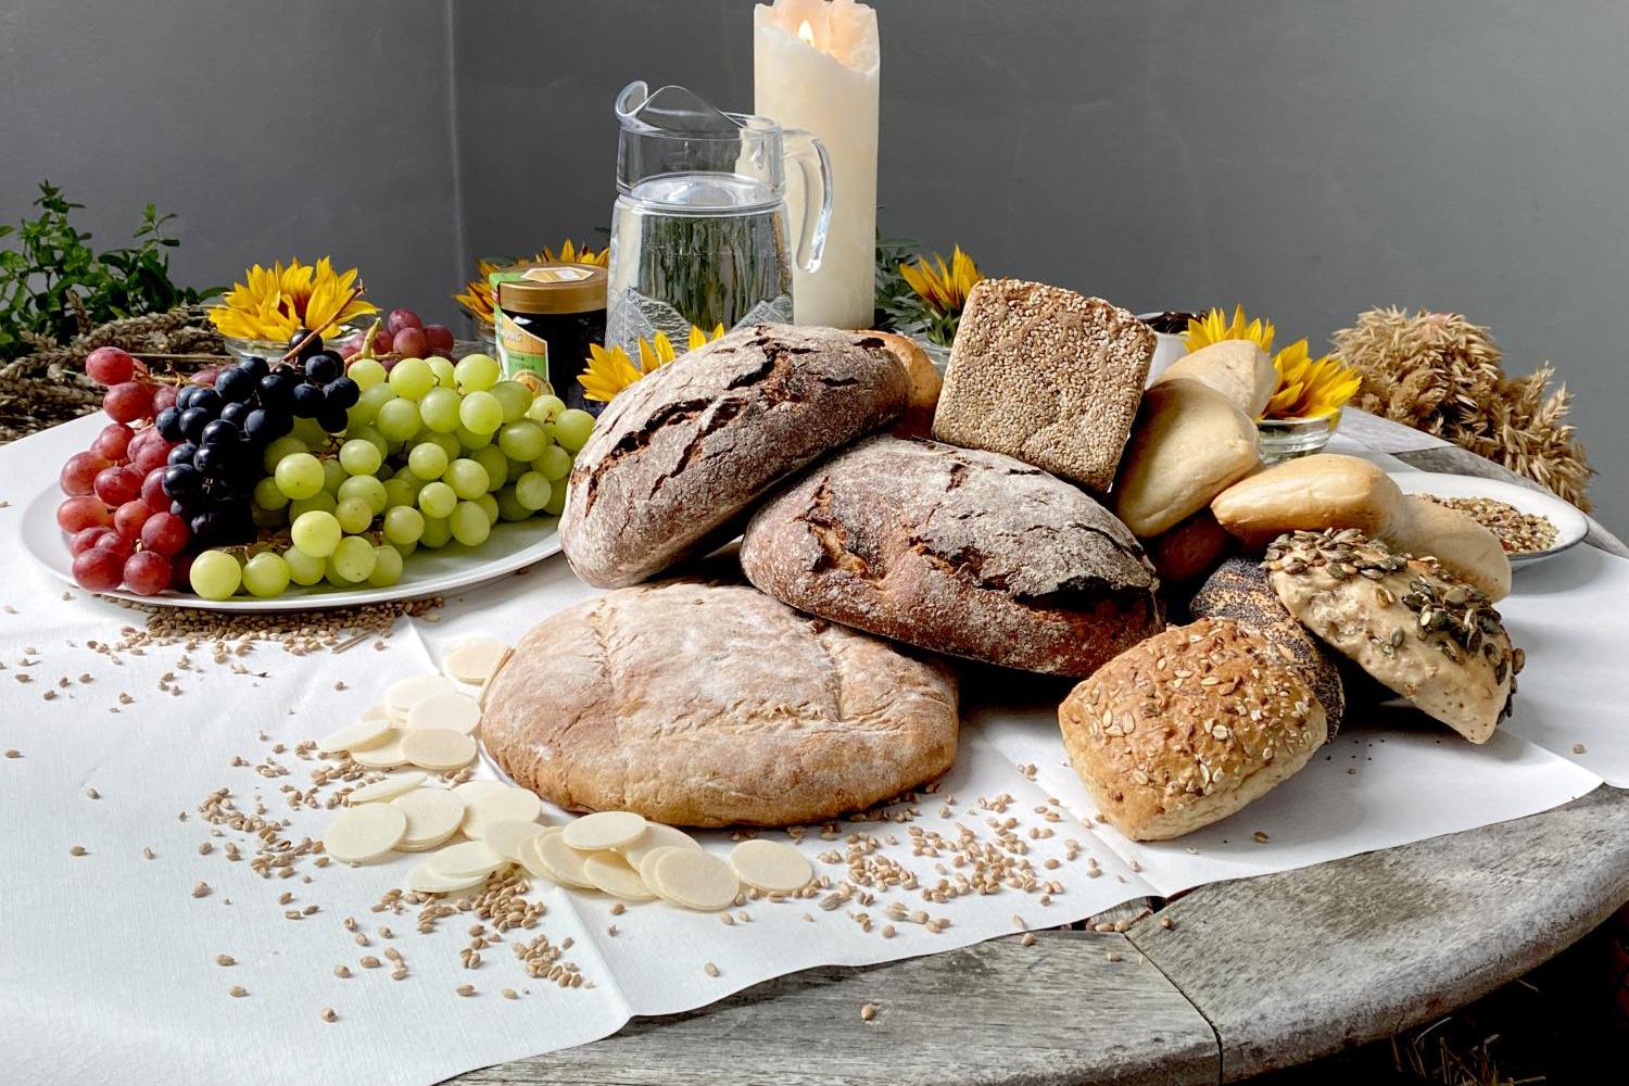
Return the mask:
<path id="1" fill-rule="evenodd" d="M 1629 532 L 1629 5 L 875 0 L 880 225 L 1315 347 L 1458 309 L 1579 394 Z M 751 106 L 751 0 L 5 0 L 0 218 L 39 177 L 179 272 L 332 254 L 454 321 L 474 256 L 609 220 L 626 81 Z"/>

